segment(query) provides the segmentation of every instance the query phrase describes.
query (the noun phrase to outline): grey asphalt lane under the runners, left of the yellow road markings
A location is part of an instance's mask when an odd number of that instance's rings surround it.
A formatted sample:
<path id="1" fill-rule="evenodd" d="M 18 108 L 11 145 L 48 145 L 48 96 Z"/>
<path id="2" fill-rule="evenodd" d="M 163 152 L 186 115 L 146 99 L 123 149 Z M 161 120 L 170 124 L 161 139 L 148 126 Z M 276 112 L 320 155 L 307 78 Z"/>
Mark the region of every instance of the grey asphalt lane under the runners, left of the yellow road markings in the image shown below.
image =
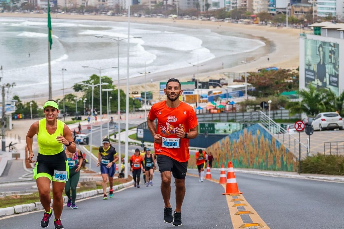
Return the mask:
<path id="1" fill-rule="evenodd" d="M 141 175 L 142 178 L 142 175 Z M 64 207 L 62 223 L 69 228 L 172 228 L 163 221 L 163 200 L 160 192 L 160 174 L 155 172 L 153 186 L 133 186 L 115 193 L 114 198 L 102 196 L 77 202 L 78 209 Z M 175 207 L 175 188 L 172 183 L 171 205 Z M 182 207 L 183 228 L 232 229 L 223 187 L 217 183 L 188 176 L 186 195 Z M 219 193 L 219 194 L 218 194 Z M 1 229 L 40 228 L 43 211 L 0 219 Z M 53 228 L 53 220 L 49 228 Z"/>

